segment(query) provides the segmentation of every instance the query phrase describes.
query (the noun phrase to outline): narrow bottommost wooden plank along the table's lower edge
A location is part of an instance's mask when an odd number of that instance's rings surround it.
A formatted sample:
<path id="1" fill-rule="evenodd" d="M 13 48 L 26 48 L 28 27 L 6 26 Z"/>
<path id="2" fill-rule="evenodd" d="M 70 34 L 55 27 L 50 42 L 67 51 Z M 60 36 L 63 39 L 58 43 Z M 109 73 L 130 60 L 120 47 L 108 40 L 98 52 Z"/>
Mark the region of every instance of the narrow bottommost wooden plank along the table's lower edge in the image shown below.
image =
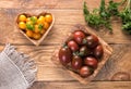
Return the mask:
<path id="1" fill-rule="evenodd" d="M 29 89 L 131 89 L 131 81 L 92 81 L 81 85 L 78 81 L 35 82 Z"/>

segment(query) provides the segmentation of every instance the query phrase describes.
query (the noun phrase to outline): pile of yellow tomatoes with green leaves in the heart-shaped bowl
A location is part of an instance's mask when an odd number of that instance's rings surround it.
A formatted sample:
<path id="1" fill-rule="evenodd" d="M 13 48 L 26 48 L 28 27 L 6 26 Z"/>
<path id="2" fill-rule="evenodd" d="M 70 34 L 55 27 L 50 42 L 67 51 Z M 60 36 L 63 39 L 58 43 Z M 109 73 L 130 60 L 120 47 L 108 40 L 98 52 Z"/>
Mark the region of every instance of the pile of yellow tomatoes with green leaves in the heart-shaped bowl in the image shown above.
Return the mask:
<path id="1" fill-rule="evenodd" d="M 21 14 L 17 17 L 19 28 L 22 29 L 27 37 L 38 40 L 52 23 L 52 15 L 47 13 L 39 16 L 27 16 Z"/>

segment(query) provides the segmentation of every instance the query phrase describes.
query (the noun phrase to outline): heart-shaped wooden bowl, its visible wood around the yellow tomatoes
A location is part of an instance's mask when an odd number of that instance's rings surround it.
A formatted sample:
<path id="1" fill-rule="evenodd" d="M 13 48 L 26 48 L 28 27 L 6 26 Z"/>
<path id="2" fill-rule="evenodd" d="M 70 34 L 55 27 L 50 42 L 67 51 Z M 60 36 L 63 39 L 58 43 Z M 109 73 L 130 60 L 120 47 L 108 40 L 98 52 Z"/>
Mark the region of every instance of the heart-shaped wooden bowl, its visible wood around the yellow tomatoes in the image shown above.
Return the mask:
<path id="1" fill-rule="evenodd" d="M 29 16 L 37 16 L 37 17 L 38 17 L 39 15 L 51 14 L 51 13 L 43 12 L 43 13 L 40 13 L 40 14 L 38 14 L 38 15 L 37 15 L 37 14 L 28 14 L 28 13 L 21 13 L 21 14 L 24 14 L 24 15 L 26 15 L 27 17 L 29 17 Z M 48 33 L 50 31 L 50 29 L 51 29 L 51 27 L 52 27 L 52 25 L 53 25 L 53 23 L 55 23 L 55 16 L 51 14 L 51 16 L 52 16 L 52 22 L 50 23 L 50 26 L 48 27 L 48 29 L 46 30 L 46 33 L 45 33 L 38 40 L 35 40 L 35 39 L 32 39 L 32 38 L 27 37 L 26 34 L 25 34 L 21 28 L 19 28 L 19 16 L 20 16 L 21 14 L 19 14 L 17 17 L 16 17 L 16 27 L 17 27 L 17 29 L 19 29 L 20 33 L 22 33 L 29 41 L 32 41 L 35 46 L 39 46 L 40 42 L 46 38 L 46 36 L 48 35 Z"/>

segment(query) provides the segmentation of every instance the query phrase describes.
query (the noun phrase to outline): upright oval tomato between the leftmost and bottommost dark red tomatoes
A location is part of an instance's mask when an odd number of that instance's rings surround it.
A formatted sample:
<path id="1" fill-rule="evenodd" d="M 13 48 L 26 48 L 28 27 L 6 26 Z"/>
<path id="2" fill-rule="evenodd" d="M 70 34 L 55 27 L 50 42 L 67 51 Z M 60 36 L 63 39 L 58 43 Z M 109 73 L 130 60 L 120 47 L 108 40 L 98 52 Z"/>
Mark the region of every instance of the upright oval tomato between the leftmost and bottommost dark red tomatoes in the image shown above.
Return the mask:
<path id="1" fill-rule="evenodd" d="M 82 67 L 82 59 L 75 55 L 71 62 L 71 66 L 73 69 L 80 69 Z"/>

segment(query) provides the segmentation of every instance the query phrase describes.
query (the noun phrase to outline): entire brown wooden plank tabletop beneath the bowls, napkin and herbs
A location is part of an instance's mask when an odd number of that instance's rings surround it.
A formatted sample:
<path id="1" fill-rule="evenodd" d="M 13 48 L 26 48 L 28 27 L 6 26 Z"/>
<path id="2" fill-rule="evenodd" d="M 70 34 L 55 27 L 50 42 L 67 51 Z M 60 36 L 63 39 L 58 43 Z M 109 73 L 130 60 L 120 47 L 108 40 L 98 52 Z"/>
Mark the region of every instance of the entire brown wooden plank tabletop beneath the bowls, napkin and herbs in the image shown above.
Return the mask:
<path id="1" fill-rule="evenodd" d="M 92 10 L 99 5 L 100 0 L 85 1 Z M 103 29 L 99 31 L 92 29 L 112 47 L 114 53 L 88 85 L 80 84 L 51 62 L 53 50 L 73 25 L 78 23 L 86 25 L 82 7 L 83 0 L 0 0 L 0 50 L 10 42 L 36 61 L 37 81 L 31 89 L 131 89 L 131 81 L 110 81 L 111 76 L 117 72 L 128 72 L 131 75 L 131 36 L 121 30 L 121 24 L 117 21 L 112 22 L 114 35 Z M 43 11 L 51 12 L 56 22 L 41 44 L 35 47 L 16 29 L 15 17 L 22 12 Z"/>

